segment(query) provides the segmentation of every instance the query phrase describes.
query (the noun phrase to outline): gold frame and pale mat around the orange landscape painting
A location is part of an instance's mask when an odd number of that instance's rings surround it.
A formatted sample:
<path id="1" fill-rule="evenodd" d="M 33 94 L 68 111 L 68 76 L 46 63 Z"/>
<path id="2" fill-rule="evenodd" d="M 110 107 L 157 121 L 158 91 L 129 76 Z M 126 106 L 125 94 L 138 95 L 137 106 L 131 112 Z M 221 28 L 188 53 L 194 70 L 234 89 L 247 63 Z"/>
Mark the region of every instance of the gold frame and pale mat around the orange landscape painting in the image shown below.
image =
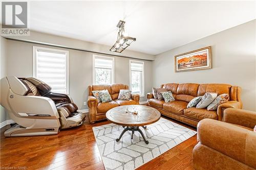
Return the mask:
<path id="1" fill-rule="evenodd" d="M 200 52 L 203 52 L 203 51 L 207 52 L 207 65 L 206 66 L 195 66 L 194 68 L 183 68 L 183 69 L 179 69 L 178 68 L 177 60 L 179 58 L 182 59 L 182 57 L 185 58 L 185 56 L 189 56 L 190 54 L 193 55 L 193 54 L 200 53 Z M 175 65 L 174 65 L 175 72 L 211 69 L 212 68 L 211 46 L 207 46 L 207 47 L 204 47 L 204 48 L 200 48 L 198 50 L 194 50 L 194 51 L 191 51 L 191 52 L 187 52 L 187 53 L 176 55 L 174 60 L 175 60 Z"/>

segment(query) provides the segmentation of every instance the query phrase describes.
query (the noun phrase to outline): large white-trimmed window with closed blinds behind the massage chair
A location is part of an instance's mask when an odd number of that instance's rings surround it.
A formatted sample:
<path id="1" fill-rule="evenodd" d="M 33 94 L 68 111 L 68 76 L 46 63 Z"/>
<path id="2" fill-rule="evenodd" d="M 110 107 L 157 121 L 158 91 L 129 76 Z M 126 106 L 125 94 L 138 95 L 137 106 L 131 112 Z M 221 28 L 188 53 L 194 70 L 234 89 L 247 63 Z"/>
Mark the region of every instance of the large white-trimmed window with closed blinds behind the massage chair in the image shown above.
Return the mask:
<path id="1" fill-rule="evenodd" d="M 33 77 L 49 84 L 52 92 L 69 93 L 69 52 L 33 46 Z"/>

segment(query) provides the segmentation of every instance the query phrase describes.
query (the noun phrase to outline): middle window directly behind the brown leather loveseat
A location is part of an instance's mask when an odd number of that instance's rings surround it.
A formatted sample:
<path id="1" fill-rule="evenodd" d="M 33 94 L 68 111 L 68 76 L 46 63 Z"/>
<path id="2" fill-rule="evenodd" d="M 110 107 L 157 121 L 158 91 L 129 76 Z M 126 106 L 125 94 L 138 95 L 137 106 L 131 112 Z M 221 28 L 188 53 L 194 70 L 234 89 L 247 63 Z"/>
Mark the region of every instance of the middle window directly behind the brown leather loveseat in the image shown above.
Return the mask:
<path id="1" fill-rule="evenodd" d="M 93 84 L 114 83 L 114 57 L 93 55 Z"/>

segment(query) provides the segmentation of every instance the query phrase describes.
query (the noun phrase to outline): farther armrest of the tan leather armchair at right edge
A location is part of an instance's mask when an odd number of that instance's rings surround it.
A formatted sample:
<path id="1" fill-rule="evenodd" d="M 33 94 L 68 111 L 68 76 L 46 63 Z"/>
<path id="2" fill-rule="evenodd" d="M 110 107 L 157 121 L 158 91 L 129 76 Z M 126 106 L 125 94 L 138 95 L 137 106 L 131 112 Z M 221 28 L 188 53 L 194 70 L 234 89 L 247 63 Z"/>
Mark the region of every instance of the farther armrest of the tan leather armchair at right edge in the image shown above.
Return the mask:
<path id="1" fill-rule="evenodd" d="M 228 108 L 224 110 L 223 122 L 253 129 L 256 125 L 256 112 Z"/>

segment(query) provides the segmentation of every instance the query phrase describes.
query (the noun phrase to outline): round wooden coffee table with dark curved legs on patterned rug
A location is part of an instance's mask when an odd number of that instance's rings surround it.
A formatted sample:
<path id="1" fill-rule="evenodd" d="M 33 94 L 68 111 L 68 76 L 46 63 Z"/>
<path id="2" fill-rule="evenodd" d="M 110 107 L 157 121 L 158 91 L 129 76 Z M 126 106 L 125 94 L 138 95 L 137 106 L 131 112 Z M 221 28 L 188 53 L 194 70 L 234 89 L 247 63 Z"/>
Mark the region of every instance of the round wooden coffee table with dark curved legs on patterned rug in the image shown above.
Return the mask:
<path id="1" fill-rule="evenodd" d="M 138 112 L 138 114 L 132 113 L 134 111 Z M 124 128 L 116 141 L 119 141 L 126 131 L 132 131 L 131 138 L 133 139 L 134 131 L 138 131 L 146 144 L 148 144 L 148 140 L 146 140 L 139 127 L 146 129 L 146 125 L 157 122 L 160 117 L 161 114 L 157 109 L 143 105 L 118 106 L 106 112 L 106 118 L 110 122 L 121 125 Z"/>

